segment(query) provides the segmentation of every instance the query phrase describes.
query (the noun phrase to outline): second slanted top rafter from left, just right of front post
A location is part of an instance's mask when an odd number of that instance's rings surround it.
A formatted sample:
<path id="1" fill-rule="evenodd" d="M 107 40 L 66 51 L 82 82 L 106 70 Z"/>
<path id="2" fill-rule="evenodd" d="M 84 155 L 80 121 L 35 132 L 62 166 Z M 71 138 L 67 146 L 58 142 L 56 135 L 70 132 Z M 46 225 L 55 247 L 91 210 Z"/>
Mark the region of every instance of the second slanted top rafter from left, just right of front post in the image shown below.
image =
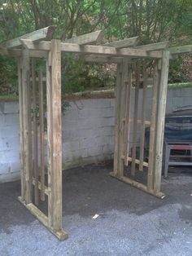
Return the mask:
<path id="1" fill-rule="evenodd" d="M 64 42 L 68 43 L 77 43 L 79 45 L 85 45 L 85 44 L 99 44 L 103 41 L 103 31 L 98 30 L 93 33 L 85 33 L 84 35 L 66 39 Z"/>

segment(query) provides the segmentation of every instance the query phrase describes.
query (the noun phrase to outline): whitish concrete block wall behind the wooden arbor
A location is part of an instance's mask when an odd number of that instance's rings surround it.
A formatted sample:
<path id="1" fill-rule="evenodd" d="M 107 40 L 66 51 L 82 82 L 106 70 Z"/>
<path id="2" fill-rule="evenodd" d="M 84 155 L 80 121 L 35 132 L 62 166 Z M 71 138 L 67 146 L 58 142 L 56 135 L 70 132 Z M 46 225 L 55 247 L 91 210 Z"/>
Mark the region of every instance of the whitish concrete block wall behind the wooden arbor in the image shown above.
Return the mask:
<path id="1" fill-rule="evenodd" d="M 132 93 L 133 117 L 134 91 Z M 152 91 L 148 89 L 148 120 L 151 113 L 151 95 Z M 190 105 L 191 99 L 192 88 L 169 89 L 167 113 L 178 106 Z M 111 159 L 114 146 L 115 99 L 84 99 L 70 102 L 70 105 L 63 117 L 63 169 Z M 140 118 L 142 89 L 139 91 L 138 112 Z M 137 140 L 139 141 L 139 135 Z M 19 178 L 19 105 L 16 102 L 0 102 L 0 182 Z"/>

